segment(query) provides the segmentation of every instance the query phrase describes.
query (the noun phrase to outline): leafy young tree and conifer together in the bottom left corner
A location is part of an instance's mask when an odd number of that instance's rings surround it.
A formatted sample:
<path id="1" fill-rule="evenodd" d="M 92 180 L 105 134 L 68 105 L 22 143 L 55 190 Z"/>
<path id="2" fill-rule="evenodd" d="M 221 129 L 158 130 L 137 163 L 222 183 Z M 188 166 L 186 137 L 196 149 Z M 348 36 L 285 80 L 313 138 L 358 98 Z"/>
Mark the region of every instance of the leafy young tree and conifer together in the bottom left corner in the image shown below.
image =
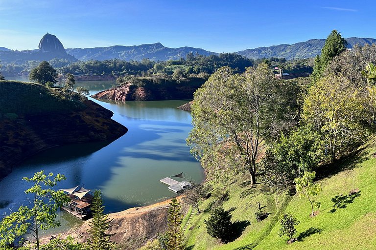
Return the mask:
<path id="1" fill-rule="evenodd" d="M 57 209 L 70 198 L 61 190 L 55 190 L 58 182 L 65 180 L 61 174 L 45 174 L 40 171 L 33 177 L 24 177 L 23 180 L 32 186 L 25 190 L 30 194 L 29 203 L 22 205 L 2 218 L 0 222 L 0 248 L 13 249 L 14 243 L 19 241 L 20 250 L 111 250 L 115 244 L 111 242 L 112 234 L 107 234 L 110 222 L 105 215 L 100 190 L 95 190 L 92 204 L 93 220 L 89 223 L 90 237 L 87 243 L 75 243 L 72 237 L 67 239 L 56 238 L 46 244 L 41 244 L 40 233 L 42 230 L 56 228 L 60 222 L 56 220 Z M 27 236 L 26 238 L 23 238 Z M 26 244 L 25 244 L 26 243 Z"/>

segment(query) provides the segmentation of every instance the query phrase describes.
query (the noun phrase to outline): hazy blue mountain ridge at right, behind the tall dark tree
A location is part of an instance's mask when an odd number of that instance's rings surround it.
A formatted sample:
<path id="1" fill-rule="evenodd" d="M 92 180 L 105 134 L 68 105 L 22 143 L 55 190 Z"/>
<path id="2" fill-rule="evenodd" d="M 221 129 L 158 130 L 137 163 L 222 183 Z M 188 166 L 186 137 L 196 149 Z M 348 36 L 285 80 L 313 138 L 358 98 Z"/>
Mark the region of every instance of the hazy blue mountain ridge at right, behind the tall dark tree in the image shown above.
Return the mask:
<path id="1" fill-rule="evenodd" d="M 373 38 L 347 38 L 347 47 L 352 48 L 355 44 L 364 46 L 365 44 L 376 43 Z M 311 58 L 321 54 L 324 47 L 325 39 L 311 39 L 306 42 L 298 42 L 294 44 L 280 44 L 270 47 L 258 47 L 255 49 L 246 49 L 236 52 L 239 55 L 252 59 L 279 57 L 287 60 L 295 58 Z"/>

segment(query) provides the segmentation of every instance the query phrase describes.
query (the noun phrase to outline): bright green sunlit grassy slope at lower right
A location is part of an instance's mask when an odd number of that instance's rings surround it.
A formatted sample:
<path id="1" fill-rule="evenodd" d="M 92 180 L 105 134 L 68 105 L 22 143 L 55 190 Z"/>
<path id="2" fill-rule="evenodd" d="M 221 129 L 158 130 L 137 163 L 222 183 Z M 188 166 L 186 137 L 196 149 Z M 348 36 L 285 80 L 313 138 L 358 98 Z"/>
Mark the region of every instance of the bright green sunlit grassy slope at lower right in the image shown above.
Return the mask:
<path id="1" fill-rule="evenodd" d="M 291 197 L 283 193 L 277 196 L 268 193 L 262 185 L 251 188 L 241 180 L 237 181 L 229 188 L 230 200 L 225 208 L 236 207 L 233 221 L 248 220 L 251 224 L 237 240 L 224 245 L 206 233 L 203 222 L 209 214 L 194 215 L 191 219 L 194 229 L 186 231 L 188 246 L 194 245 L 193 249 L 200 250 L 376 249 L 376 158 L 371 157 L 371 151 L 375 149 L 369 147 L 359 155 L 341 161 L 339 166 L 345 169 L 320 181 L 323 192 L 315 199 L 322 206 L 314 218 L 309 217 L 308 200 L 301 200 L 298 195 Z M 355 188 L 359 188 L 359 195 L 349 195 Z M 331 211 L 334 208 L 331 199 L 341 194 L 338 204 L 341 208 Z M 210 201 L 204 201 L 202 208 Z M 258 202 L 271 213 L 262 222 L 255 220 Z M 277 219 L 284 210 L 301 221 L 296 234 L 300 241 L 291 245 L 286 245 L 286 236 L 278 235 Z"/>

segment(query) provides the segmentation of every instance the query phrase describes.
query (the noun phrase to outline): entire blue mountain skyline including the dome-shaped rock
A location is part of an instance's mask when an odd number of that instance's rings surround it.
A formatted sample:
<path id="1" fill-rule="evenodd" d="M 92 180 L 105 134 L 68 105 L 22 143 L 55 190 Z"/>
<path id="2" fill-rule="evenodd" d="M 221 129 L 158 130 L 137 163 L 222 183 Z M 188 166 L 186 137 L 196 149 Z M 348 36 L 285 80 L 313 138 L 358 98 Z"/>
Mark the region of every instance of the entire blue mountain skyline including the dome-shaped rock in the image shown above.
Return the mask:
<path id="1" fill-rule="evenodd" d="M 376 43 L 376 39 L 373 38 L 351 37 L 346 40 L 349 48 L 352 48 L 355 44 L 363 46 L 365 44 Z M 235 53 L 252 59 L 270 57 L 286 58 L 287 60 L 295 58 L 311 58 L 321 53 L 324 44 L 325 39 L 312 39 L 294 44 L 280 44 L 269 47 L 246 49 Z M 64 46 L 59 39 L 54 35 L 47 33 L 39 43 L 37 50 L 13 51 L 0 47 L 0 60 L 3 64 L 11 62 L 22 64 L 29 60 L 42 61 L 51 60 L 52 58 L 63 58 L 70 62 L 76 60 L 87 61 L 91 59 L 103 61 L 115 58 L 126 61 L 141 61 L 144 58 L 154 61 L 166 61 L 170 59 L 178 60 L 181 57 L 186 57 L 190 52 L 194 55 L 218 55 L 216 52 L 193 47 L 168 48 L 164 47 L 160 42 L 135 46 L 115 45 L 111 47 L 68 48 L 64 50 Z"/>

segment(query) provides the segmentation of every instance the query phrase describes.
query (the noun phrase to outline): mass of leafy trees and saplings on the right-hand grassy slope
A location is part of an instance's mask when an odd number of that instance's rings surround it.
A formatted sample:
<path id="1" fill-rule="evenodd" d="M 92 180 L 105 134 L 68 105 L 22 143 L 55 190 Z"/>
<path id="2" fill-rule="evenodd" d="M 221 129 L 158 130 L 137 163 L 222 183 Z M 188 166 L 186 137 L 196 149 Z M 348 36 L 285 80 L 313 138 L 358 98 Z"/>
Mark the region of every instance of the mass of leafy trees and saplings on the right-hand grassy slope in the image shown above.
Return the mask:
<path id="1" fill-rule="evenodd" d="M 243 172 L 252 184 L 260 180 L 271 190 L 295 184 L 314 216 L 314 206 L 320 206 L 313 200 L 321 191 L 314 183 L 318 166 L 376 133 L 376 45 L 346 45 L 333 30 L 306 85 L 275 78 L 268 62 L 243 73 L 230 67 L 213 73 L 195 92 L 187 139 L 208 179 L 227 183 L 229 175 Z M 297 223 L 283 215 L 281 234 L 292 241 Z"/>

